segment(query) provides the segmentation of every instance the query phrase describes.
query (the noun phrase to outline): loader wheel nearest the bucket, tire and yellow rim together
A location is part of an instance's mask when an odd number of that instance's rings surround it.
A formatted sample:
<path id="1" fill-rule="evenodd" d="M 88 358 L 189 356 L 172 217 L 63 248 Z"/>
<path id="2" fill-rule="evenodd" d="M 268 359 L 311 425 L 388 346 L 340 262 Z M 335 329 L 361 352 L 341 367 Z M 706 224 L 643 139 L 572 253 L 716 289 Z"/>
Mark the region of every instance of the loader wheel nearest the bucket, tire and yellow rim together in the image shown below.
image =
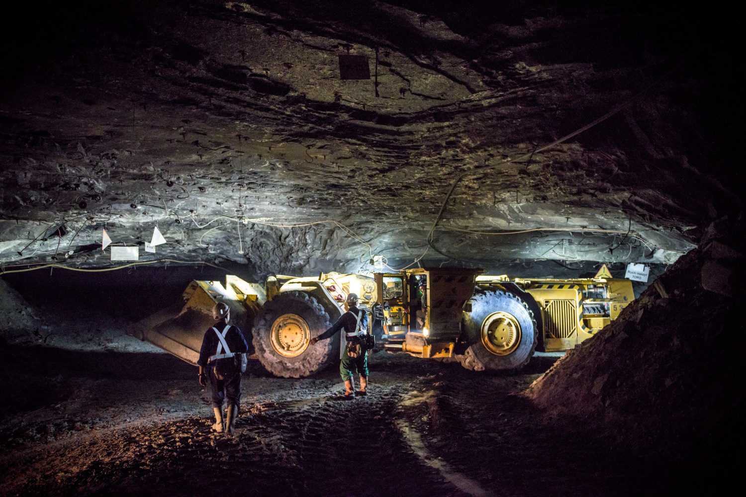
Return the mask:
<path id="1" fill-rule="evenodd" d="M 270 373 L 301 378 L 336 358 L 339 335 L 310 345 L 310 339 L 331 326 L 329 314 L 302 291 L 279 294 L 264 305 L 254 325 L 254 349 Z"/>

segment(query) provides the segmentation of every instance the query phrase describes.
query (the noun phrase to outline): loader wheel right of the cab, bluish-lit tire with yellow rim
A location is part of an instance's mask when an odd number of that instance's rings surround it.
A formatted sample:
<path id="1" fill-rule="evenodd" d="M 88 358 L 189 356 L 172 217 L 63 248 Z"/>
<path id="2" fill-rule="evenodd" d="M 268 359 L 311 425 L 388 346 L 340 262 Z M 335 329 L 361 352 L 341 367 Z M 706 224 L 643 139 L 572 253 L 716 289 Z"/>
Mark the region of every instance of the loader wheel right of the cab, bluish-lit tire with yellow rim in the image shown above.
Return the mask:
<path id="1" fill-rule="evenodd" d="M 539 337 L 536 320 L 527 304 L 504 291 L 476 294 L 469 302 L 471 312 L 464 314 L 463 326 L 470 345 L 459 356 L 461 365 L 468 370 L 483 371 L 513 370 L 527 364 Z"/>

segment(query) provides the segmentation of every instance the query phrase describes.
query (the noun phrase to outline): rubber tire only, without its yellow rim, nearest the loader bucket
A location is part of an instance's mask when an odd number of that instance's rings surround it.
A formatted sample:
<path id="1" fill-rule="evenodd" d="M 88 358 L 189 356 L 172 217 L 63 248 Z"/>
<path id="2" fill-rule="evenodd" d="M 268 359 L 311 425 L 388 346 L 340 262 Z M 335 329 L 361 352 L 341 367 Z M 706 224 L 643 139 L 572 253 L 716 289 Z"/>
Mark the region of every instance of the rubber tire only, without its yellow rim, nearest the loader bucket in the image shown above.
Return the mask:
<path id="1" fill-rule="evenodd" d="M 314 297 L 302 291 L 279 294 L 264 305 L 254 325 L 254 349 L 263 366 L 275 376 L 301 378 L 322 370 L 339 354 L 339 334 L 307 347 L 295 357 L 281 355 L 272 344 L 272 327 L 279 317 L 296 314 L 307 324 L 310 338 L 328 329 L 329 314 Z"/>

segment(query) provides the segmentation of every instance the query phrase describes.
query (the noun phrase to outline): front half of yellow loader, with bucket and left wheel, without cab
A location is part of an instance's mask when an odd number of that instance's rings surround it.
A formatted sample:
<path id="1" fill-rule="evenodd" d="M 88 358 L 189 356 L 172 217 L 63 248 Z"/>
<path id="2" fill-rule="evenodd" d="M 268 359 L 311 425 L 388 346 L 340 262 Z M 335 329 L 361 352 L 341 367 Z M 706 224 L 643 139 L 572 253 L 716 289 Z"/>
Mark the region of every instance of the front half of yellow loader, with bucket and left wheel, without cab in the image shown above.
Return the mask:
<path id="1" fill-rule="evenodd" d="M 196 364 L 204 332 L 214 323 L 213 306 L 225 302 L 231 308 L 231 323 L 254 346 L 252 357 L 277 376 L 299 378 L 339 358 L 339 335 L 313 346 L 309 342 L 345 312 L 349 293 L 360 296 L 361 308 L 369 308 L 376 299 L 374 279 L 321 273 L 269 276 L 264 285 L 232 275 L 226 276 L 225 285 L 195 280 L 184 291 L 184 303 L 146 317 L 129 333 Z"/>

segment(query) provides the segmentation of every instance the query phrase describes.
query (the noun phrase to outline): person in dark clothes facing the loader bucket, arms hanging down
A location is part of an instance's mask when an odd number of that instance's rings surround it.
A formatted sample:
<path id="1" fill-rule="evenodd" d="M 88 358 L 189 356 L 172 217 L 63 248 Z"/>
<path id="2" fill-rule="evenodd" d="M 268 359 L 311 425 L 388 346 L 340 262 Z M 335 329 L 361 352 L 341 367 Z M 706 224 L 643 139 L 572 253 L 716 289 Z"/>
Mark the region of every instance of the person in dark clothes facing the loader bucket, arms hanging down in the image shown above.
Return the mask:
<path id="1" fill-rule="evenodd" d="M 241 375 L 245 371 L 248 345 L 238 326 L 228 324 L 231 309 L 225 303 L 213 307 L 215 326 L 208 329 L 199 352 L 199 384 L 213 391 L 215 424 L 213 431 L 233 437 L 241 403 Z M 223 401 L 228 400 L 228 413 L 223 424 Z"/>

